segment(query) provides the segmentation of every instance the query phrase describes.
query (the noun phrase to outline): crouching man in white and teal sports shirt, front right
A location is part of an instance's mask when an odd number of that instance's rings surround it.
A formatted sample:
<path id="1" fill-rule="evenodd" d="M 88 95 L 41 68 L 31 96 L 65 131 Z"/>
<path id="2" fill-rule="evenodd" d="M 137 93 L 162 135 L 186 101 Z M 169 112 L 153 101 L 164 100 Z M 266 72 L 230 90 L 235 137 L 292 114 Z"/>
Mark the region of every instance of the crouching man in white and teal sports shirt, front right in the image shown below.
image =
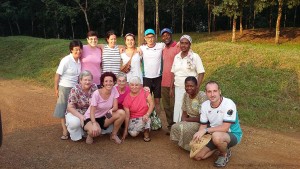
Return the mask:
<path id="1" fill-rule="evenodd" d="M 195 160 L 203 160 L 211 156 L 216 150 L 220 154 L 214 165 L 225 167 L 231 157 L 230 147 L 240 143 L 242 130 L 239 123 L 235 103 L 221 95 L 217 82 L 209 81 L 205 86 L 205 93 L 209 100 L 202 103 L 199 131 L 193 140 L 199 140 L 205 134 L 211 134 L 211 140 L 195 156 Z"/>

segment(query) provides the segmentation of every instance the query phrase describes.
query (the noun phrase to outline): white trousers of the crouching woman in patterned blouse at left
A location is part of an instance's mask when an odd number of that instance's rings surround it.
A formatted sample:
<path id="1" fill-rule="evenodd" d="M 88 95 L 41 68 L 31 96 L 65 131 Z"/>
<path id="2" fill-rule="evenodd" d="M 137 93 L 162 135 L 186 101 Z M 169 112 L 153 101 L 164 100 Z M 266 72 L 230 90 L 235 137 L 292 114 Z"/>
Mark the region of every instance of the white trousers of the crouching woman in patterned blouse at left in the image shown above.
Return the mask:
<path id="1" fill-rule="evenodd" d="M 74 116 L 72 113 L 66 114 L 66 126 L 70 133 L 71 140 L 78 141 L 82 139 L 84 131 L 81 127 L 80 119 Z"/>

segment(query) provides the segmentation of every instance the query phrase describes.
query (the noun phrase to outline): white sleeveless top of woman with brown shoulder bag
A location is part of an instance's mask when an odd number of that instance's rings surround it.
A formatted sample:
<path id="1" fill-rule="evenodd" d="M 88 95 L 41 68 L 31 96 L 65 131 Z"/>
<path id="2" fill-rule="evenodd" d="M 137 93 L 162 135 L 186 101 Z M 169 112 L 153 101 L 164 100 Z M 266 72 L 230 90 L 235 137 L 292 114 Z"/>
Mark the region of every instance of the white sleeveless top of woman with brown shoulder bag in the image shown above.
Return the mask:
<path id="1" fill-rule="evenodd" d="M 130 56 L 127 56 L 126 53 L 124 52 L 121 54 L 121 60 L 123 62 L 123 65 L 125 65 L 130 60 Z M 127 82 L 129 82 L 129 80 L 133 76 L 137 76 L 141 79 L 141 81 L 143 83 L 143 76 L 142 76 L 142 70 L 141 70 L 141 56 L 138 53 L 135 53 L 132 56 L 130 66 L 131 66 L 130 71 L 126 74 Z"/>

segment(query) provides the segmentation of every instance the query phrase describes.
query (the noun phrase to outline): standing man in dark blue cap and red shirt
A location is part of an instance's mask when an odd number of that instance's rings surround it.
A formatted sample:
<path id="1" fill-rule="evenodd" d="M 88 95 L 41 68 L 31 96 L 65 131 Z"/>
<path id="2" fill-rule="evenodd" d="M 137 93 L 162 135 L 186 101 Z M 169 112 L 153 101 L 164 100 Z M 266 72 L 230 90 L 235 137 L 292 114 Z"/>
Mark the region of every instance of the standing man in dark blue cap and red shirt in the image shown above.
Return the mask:
<path id="1" fill-rule="evenodd" d="M 175 55 L 180 52 L 180 48 L 175 41 L 172 39 L 172 31 L 169 28 L 164 28 L 160 32 L 161 39 L 165 43 L 163 49 L 163 73 L 161 82 L 161 97 L 164 110 L 166 113 L 168 131 L 170 134 L 171 126 L 173 125 L 173 111 L 174 111 L 174 96 L 170 96 L 171 79 L 173 75 L 171 73 L 172 64 Z"/>

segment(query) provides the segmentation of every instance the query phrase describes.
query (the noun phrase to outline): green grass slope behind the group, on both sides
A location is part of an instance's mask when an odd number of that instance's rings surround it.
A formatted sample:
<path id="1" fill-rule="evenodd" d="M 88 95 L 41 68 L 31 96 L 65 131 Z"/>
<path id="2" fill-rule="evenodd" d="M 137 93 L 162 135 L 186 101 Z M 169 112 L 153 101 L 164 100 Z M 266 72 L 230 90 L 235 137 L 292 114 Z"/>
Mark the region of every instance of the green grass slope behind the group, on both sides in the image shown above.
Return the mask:
<path id="1" fill-rule="evenodd" d="M 193 51 L 206 70 L 204 83 L 220 82 L 222 94 L 237 104 L 242 124 L 300 131 L 300 45 L 233 44 L 207 34 L 192 37 Z M 123 44 L 121 38 L 118 41 Z M 68 44 L 69 40 L 0 37 L 0 76 L 52 87 L 59 61 L 69 53 Z"/>

